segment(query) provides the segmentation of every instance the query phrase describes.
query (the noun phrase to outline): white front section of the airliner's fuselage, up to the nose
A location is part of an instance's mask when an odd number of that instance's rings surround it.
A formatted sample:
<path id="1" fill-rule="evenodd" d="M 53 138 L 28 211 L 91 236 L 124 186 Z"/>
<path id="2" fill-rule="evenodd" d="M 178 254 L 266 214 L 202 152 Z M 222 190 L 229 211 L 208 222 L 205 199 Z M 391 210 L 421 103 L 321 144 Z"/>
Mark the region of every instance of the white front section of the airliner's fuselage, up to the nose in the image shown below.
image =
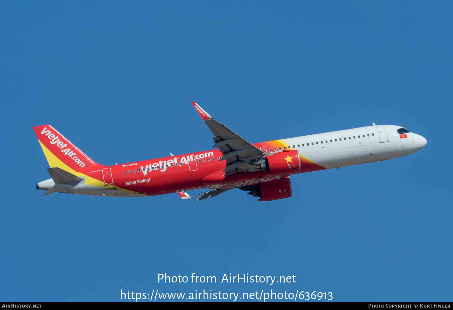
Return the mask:
<path id="1" fill-rule="evenodd" d="M 400 138 L 395 125 L 366 126 L 283 139 L 300 155 L 327 169 L 388 160 L 412 154 L 426 145 L 413 132 Z M 340 140 L 341 139 L 341 140 Z"/>

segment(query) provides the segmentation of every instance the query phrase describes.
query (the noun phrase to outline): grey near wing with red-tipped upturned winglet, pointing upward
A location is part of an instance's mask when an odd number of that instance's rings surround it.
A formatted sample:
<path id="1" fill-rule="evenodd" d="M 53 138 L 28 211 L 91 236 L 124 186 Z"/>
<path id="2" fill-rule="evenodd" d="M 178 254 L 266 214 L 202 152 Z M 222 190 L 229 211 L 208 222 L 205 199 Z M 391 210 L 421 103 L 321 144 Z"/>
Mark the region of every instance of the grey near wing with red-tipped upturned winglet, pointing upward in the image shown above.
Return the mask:
<path id="1" fill-rule="evenodd" d="M 264 151 L 214 120 L 197 103 L 192 102 L 192 104 L 214 135 L 212 139 L 214 139 L 215 144 L 212 148 L 218 148 L 223 154 L 220 160 L 226 161 L 225 170 L 223 170 L 225 176 L 236 172 L 263 170 L 260 165 L 264 163 L 264 160 L 261 160 L 266 155 Z"/>

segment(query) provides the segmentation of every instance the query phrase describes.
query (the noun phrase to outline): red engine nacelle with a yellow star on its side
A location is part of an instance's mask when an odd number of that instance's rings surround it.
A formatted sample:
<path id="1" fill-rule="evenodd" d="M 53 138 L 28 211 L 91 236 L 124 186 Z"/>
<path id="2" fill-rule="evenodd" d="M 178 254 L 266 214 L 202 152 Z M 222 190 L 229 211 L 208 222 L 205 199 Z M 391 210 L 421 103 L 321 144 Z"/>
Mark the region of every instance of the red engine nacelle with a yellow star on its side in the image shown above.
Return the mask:
<path id="1" fill-rule="evenodd" d="M 284 150 L 265 157 L 270 174 L 293 174 L 300 171 L 300 158 L 297 150 Z"/>

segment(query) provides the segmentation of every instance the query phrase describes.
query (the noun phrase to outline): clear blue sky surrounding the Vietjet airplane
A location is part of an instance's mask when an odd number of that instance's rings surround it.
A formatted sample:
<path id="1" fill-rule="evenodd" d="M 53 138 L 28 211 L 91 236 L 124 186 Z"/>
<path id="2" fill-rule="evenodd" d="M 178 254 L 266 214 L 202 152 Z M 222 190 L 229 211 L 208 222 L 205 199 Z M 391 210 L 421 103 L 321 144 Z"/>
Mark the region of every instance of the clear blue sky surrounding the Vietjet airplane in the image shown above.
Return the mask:
<path id="1" fill-rule="evenodd" d="M 0 300 L 118 301 L 120 289 L 322 291 L 451 301 L 453 5 L 447 1 L 0 3 Z M 56 194 L 32 126 L 104 165 L 207 150 L 196 101 L 260 142 L 376 124 L 428 140 L 404 158 L 240 190 Z M 159 273 L 216 284 L 157 283 Z M 226 284 L 223 274 L 295 275 Z"/>

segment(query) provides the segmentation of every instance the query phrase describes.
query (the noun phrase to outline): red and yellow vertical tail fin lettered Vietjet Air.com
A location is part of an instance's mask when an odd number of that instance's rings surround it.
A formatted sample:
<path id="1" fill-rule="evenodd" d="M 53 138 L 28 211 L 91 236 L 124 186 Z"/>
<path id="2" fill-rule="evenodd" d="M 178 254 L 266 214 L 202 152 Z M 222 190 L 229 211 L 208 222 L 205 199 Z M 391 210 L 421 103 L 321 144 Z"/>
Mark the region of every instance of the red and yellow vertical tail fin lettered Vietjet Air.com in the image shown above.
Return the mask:
<path id="1" fill-rule="evenodd" d="M 33 129 L 50 167 L 58 167 L 71 173 L 71 170 L 81 172 L 102 167 L 52 126 L 35 126 Z"/>

